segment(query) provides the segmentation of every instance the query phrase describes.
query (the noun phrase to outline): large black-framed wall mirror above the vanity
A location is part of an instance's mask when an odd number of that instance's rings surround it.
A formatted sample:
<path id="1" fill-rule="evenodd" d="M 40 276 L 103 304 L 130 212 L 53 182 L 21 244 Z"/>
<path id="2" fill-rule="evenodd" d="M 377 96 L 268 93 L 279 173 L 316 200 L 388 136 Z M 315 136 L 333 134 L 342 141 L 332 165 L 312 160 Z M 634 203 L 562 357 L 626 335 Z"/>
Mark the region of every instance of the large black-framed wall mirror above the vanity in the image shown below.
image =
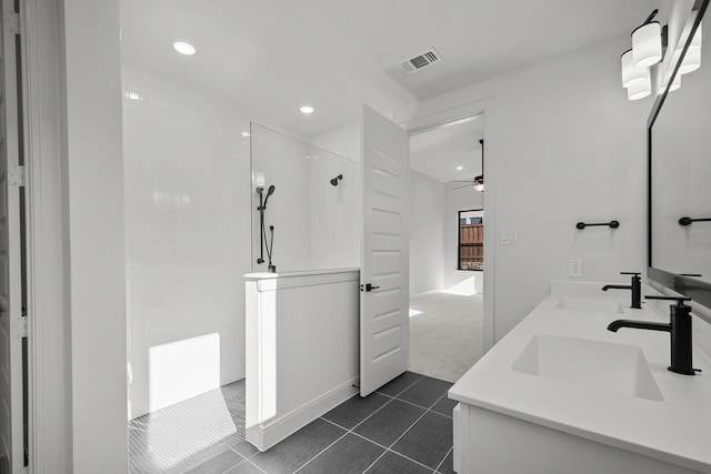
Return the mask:
<path id="1" fill-rule="evenodd" d="M 667 87 L 649 124 L 648 276 L 711 307 L 711 38 L 702 37 L 701 67 L 687 72 L 693 34 L 709 0 L 697 1 L 670 68 L 681 87 Z M 685 61 L 684 61 L 685 59 Z M 689 67 L 690 68 L 690 67 Z M 671 82 L 670 82 L 671 84 Z"/>

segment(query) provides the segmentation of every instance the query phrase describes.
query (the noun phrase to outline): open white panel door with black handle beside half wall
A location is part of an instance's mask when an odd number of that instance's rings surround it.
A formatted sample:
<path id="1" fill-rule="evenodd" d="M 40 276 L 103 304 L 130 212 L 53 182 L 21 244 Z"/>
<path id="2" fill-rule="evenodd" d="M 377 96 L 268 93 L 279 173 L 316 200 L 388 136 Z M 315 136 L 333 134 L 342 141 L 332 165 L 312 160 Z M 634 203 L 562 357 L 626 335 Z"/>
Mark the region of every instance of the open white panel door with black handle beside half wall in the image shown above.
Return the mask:
<path id="1" fill-rule="evenodd" d="M 408 370 L 410 242 L 407 132 L 363 105 L 363 242 L 360 266 L 360 394 Z"/>

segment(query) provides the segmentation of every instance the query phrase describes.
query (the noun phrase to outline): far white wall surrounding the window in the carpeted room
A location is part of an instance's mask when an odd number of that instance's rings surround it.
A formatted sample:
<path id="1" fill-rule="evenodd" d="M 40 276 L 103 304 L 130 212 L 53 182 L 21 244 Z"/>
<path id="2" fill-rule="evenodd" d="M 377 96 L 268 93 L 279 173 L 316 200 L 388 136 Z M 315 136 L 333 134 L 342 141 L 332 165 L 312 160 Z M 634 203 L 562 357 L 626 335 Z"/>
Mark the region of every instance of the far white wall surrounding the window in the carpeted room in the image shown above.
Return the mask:
<path id="1" fill-rule="evenodd" d="M 451 288 L 471 280 L 471 291 L 482 293 L 482 272 L 457 270 L 459 246 L 459 211 L 483 209 L 483 193 L 474 191 L 472 186 L 455 190 L 461 184 L 448 185 L 445 189 L 444 204 L 444 286 Z M 484 209 L 484 225 L 487 225 L 487 210 Z M 485 259 L 485 255 L 484 255 Z M 484 260 L 484 269 L 488 262 Z"/>

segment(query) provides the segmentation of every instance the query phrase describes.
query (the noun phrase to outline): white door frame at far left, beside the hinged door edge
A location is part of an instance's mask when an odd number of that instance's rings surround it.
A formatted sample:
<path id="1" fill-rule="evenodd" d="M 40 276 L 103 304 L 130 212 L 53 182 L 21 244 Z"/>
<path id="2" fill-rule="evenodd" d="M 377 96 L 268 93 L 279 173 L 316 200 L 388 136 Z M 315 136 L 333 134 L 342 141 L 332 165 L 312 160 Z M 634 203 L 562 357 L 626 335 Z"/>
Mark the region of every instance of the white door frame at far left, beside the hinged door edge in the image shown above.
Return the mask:
<path id="1" fill-rule="evenodd" d="M 20 1 L 30 473 L 71 470 L 59 26 L 56 2 Z"/>

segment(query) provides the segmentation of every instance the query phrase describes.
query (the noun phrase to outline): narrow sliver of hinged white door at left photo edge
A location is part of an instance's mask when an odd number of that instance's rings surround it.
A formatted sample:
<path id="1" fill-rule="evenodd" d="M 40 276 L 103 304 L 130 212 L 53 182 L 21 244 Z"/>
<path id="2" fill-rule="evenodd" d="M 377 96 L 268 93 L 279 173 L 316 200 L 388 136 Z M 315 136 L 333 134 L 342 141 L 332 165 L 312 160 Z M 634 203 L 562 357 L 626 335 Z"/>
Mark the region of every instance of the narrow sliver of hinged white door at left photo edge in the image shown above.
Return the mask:
<path id="1" fill-rule="evenodd" d="M 24 466 L 18 87 L 13 2 L 2 1 L 0 20 L 0 454 L 10 473 Z"/>

